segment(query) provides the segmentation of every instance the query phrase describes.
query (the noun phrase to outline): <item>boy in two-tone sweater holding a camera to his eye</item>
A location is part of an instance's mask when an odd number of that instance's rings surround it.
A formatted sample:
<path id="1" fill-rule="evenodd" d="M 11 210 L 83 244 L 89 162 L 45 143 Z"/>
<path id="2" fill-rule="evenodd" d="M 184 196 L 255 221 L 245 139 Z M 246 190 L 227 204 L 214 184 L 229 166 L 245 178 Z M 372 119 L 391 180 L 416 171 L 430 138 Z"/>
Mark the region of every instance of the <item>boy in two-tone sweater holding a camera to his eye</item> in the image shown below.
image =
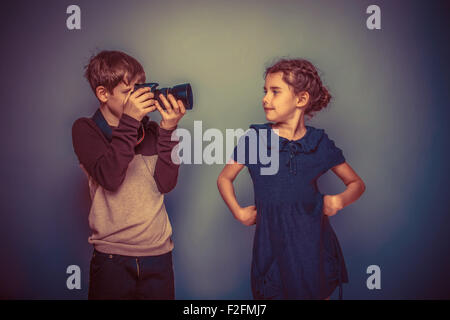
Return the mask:
<path id="1" fill-rule="evenodd" d="M 74 151 L 89 180 L 92 205 L 89 299 L 174 299 L 172 228 L 164 193 L 177 182 L 171 134 L 183 103 L 145 82 L 141 64 L 119 51 L 91 58 L 85 76 L 100 102 L 91 118 L 72 127 Z M 161 122 L 147 113 L 158 110 Z"/>

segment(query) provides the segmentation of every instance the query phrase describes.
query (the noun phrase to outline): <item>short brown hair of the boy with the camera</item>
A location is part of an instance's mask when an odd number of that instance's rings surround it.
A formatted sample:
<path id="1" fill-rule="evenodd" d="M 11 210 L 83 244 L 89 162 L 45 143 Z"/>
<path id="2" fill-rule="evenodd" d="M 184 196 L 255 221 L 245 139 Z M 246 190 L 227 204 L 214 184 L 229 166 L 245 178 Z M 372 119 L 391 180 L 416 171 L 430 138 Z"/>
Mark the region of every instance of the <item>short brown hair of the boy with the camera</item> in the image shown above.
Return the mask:
<path id="1" fill-rule="evenodd" d="M 110 93 L 121 82 L 130 83 L 138 77 L 145 82 L 142 65 L 133 57 L 121 51 L 101 51 L 93 56 L 85 66 L 84 76 L 92 90 L 104 86 Z"/>

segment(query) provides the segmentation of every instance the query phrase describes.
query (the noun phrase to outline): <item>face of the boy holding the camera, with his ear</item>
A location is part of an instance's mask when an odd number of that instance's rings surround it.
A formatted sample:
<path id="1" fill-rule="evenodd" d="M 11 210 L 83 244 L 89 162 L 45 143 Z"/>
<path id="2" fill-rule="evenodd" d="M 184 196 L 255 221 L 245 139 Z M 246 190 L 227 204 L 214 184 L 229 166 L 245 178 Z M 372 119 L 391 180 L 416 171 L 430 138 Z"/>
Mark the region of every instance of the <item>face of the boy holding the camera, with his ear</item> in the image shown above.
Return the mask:
<path id="1" fill-rule="evenodd" d="M 134 85 L 141 82 L 142 80 L 139 77 L 136 77 L 128 84 L 125 81 L 121 81 L 112 92 L 105 89 L 106 92 L 102 95 L 103 99 L 100 100 L 106 104 L 109 111 L 117 119 L 120 119 L 122 117 L 123 107 L 134 90 Z"/>

